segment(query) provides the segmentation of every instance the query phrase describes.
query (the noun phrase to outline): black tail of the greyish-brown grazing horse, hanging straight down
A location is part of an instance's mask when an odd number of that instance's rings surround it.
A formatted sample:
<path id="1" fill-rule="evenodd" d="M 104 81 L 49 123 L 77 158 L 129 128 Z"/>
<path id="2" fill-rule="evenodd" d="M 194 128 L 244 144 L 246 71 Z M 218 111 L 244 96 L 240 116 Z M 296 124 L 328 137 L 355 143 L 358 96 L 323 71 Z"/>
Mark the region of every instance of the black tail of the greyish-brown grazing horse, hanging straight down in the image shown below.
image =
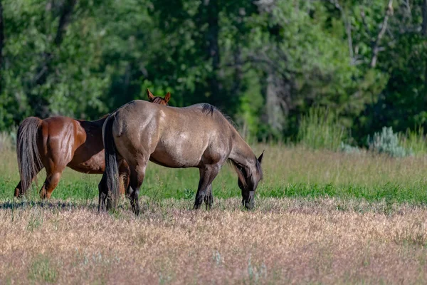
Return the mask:
<path id="1" fill-rule="evenodd" d="M 108 195 L 112 201 L 112 207 L 117 204 L 119 192 L 119 166 L 117 163 L 117 149 L 112 136 L 112 124 L 115 122 L 115 115 L 110 115 L 104 123 L 103 142 L 105 148 L 105 177 L 107 180 Z M 110 201 L 110 199 L 108 199 Z"/>

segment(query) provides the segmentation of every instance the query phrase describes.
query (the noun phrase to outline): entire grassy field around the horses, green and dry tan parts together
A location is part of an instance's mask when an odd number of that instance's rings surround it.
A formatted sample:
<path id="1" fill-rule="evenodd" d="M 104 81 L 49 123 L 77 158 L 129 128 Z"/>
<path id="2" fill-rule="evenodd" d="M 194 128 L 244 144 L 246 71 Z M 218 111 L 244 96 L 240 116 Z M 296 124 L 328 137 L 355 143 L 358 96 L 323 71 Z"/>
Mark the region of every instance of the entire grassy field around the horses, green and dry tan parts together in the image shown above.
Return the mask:
<path id="1" fill-rule="evenodd" d="M 97 213 L 99 175 L 67 170 L 53 198 L 11 196 L 0 154 L 0 284 L 425 284 L 427 157 L 265 149 L 255 210 L 224 166 L 214 209 L 191 210 L 198 171 L 149 165 L 142 214 Z M 38 184 L 43 182 L 43 174 Z"/>

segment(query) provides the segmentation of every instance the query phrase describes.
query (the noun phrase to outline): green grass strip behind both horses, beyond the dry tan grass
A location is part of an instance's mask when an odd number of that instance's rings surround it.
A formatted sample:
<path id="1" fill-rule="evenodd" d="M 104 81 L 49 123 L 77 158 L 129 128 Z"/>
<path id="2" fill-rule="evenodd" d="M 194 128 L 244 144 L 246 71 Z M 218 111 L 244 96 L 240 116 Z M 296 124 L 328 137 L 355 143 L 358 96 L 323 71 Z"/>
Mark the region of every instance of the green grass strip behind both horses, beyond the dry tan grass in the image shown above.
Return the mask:
<path id="1" fill-rule="evenodd" d="M 391 158 L 381 155 L 346 155 L 327 150 L 307 150 L 283 145 L 255 145 L 255 153 L 265 149 L 264 180 L 258 185 L 257 197 L 337 197 L 364 199 L 368 202 L 427 204 L 426 157 Z M 11 201 L 19 182 L 16 158 L 6 152 L 0 163 L 0 201 Z M 0 157 L 1 158 L 1 157 Z M 38 189 L 45 173 L 33 184 L 27 199 L 38 202 Z M 152 201 L 194 199 L 199 184 L 199 170 L 170 169 L 149 163 L 140 195 Z M 84 175 L 66 169 L 53 199 L 97 200 L 101 175 Z M 231 167 L 223 166 L 213 183 L 214 197 L 241 197 L 237 176 Z M 37 227 L 40 221 L 29 226 Z"/>

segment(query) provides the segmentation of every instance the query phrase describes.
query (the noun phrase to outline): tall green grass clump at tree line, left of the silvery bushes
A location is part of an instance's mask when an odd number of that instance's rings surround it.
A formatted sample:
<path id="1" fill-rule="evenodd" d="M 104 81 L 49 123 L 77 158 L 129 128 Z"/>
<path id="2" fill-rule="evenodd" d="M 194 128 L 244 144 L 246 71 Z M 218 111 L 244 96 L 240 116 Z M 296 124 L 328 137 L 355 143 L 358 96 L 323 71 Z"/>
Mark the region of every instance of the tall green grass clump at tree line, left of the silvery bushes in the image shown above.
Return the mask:
<path id="1" fill-rule="evenodd" d="M 312 108 L 303 116 L 298 141 L 312 149 L 339 150 L 347 138 L 347 130 L 339 124 L 337 115 L 325 108 Z"/>

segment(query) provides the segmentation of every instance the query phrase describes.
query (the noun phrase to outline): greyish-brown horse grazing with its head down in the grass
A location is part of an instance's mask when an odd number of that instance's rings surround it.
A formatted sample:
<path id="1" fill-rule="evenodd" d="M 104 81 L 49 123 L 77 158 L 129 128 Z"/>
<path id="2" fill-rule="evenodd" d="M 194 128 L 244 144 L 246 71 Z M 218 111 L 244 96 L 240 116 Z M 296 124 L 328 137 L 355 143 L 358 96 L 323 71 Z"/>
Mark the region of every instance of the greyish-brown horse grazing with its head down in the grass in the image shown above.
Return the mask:
<path id="1" fill-rule="evenodd" d="M 135 214 L 139 214 L 139 188 L 149 160 L 165 167 L 199 168 L 195 209 L 202 202 L 211 207 L 212 181 L 228 160 L 238 174 L 243 206 L 253 207 L 255 189 L 263 177 L 263 153 L 257 158 L 236 128 L 209 104 L 174 108 L 135 100 L 108 116 L 102 136 L 105 172 L 99 187 L 100 209 L 116 205 L 123 159 L 130 167 L 128 194 Z"/>

